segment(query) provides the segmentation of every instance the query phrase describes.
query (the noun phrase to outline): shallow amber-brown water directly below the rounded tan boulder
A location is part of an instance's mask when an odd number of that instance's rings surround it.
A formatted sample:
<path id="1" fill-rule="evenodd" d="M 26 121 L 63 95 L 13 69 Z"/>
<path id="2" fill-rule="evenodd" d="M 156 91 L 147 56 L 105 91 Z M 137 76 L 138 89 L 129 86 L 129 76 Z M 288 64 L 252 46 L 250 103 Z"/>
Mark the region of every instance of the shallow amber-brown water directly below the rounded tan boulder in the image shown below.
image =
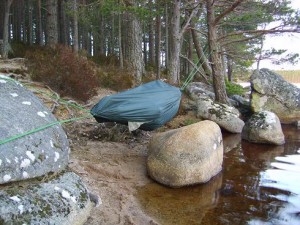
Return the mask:
<path id="1" fill-rule="evenodd" d="M 205 185 L 171 189 L 150 183 L 138 191 L 144 210 L 159 224 L 202 224 L 205 213 L 218 203 L 222 175 Z"/>

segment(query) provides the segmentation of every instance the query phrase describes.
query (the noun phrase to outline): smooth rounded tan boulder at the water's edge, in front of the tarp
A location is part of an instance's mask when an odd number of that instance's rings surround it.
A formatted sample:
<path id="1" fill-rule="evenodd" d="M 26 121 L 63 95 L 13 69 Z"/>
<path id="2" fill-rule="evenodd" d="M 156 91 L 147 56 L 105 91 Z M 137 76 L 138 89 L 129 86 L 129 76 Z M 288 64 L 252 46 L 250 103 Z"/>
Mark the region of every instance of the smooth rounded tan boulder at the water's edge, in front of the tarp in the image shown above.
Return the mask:
<path id="1" fill-rule="evenodd" d="M 205 183 L 221 171 L 222 163 L 222 134 L 212 121 L 159 133 L 150 140 L 148 173 L 166 186 Z"/>

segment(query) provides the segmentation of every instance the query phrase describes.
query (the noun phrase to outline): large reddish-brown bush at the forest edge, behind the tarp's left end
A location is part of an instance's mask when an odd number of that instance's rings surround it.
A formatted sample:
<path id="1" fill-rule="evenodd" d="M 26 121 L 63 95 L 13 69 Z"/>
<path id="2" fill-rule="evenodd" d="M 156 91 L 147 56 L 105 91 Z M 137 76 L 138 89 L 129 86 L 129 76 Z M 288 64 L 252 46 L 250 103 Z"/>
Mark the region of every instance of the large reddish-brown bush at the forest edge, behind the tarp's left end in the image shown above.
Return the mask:
<path id="1" fill-rule="evenodd" d="M 71 48 L 36 48 L 27 52 L 26 59 L 32 79 L 47 84 L 61 96 L 86 101 L 96 94 L 94 64 Z"/>

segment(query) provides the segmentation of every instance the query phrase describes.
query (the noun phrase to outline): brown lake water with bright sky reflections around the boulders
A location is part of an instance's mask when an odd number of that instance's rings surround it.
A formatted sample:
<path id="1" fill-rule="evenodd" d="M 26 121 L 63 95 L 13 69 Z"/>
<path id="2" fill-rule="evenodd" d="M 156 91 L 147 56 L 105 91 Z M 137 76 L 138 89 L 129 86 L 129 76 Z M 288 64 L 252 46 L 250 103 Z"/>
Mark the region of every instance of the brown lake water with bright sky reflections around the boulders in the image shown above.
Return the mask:
<path id="1" fill-rule="evenodd" d="M 286 144 L 258 145 L 224 134 L 223 170 L 210 182 L 138 190 L 144 211 L 162 225 L 300 224 L 300 130 L 283 125 Z"/>

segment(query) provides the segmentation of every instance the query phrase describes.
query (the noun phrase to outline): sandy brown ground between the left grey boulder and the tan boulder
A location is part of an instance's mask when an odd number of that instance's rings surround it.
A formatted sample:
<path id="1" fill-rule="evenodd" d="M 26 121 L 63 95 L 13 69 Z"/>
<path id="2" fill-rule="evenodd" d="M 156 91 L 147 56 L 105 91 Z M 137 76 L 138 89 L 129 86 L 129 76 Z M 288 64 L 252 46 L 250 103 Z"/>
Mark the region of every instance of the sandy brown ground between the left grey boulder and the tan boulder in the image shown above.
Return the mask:
<path id="1" fill-rule="evenodd" d="M 0 60 L 0 73 L 9 74 L 25 84 L 59 120 L 86 114 L 61 103 L 57 93 L 46 85 L 32 82 L 21 59 Z M 90 99 L 85 109 L 89 110 L 102 97 L 112 93 L 99 88 L 98 95 Z M 57 99 L 49 96 L 57 96 Z M 191 120 L 194 118 L 190 119 L 189 115 L 177 116 L 161 130 L 179 127 Z M 63 127 L 71 147 L 69 168 L 82 177 L 90 192 L 100 197 L 85 225 L 159 224 L 144 212 L 137 196 L 140 188 L 154 182 L 146 169 L 147 145 L 154 132 L 130 133 L 127 126 L 97 123 L 94 118 Z"/>

